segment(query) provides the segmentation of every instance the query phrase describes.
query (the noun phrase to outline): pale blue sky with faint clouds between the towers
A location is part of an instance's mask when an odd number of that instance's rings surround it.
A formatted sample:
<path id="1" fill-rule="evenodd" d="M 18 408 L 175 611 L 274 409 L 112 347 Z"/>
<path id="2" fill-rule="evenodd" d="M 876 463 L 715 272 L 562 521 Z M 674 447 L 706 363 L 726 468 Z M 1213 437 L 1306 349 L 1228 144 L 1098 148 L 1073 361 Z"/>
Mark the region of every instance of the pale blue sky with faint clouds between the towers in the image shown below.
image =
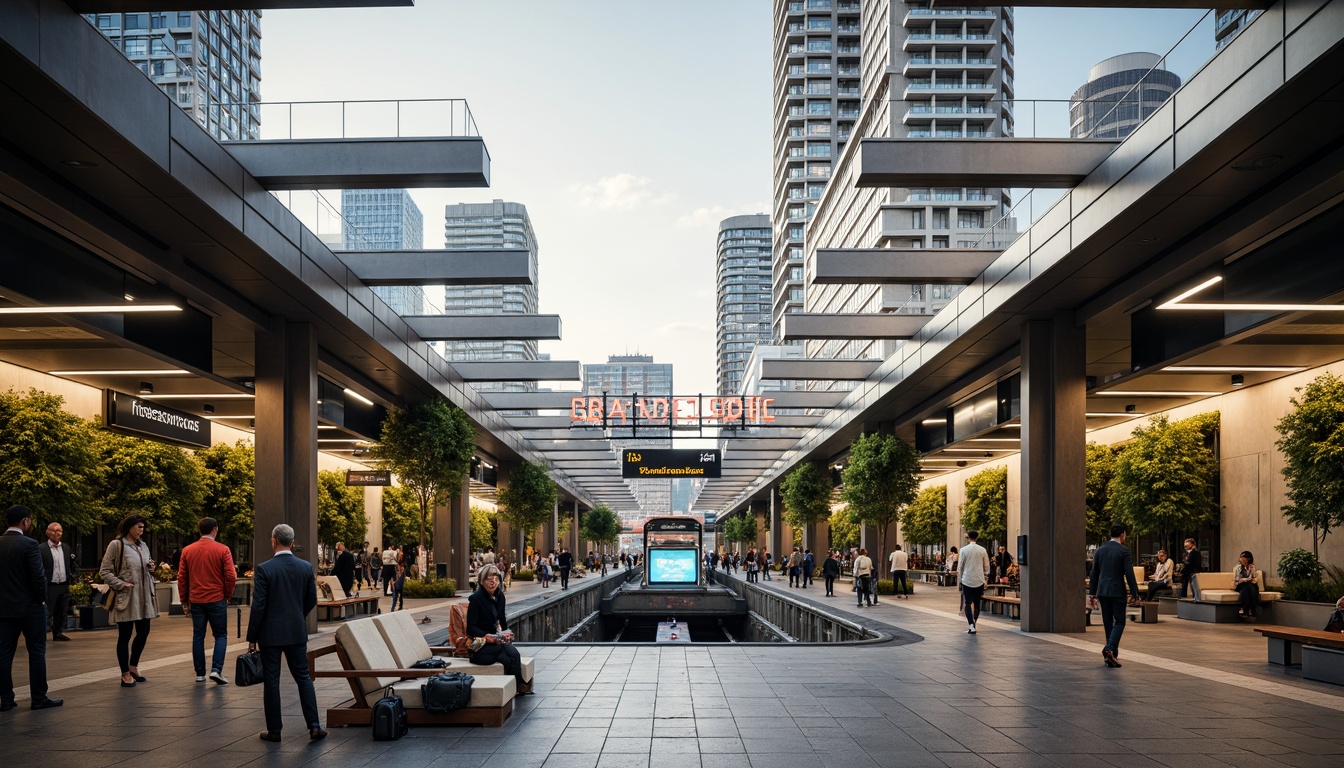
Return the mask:
<path id="1" fill-rule="evenodd" d="M 1016 95 L 1067 100 L 1094 63 L 1165 54 L 1203 15 L 1019 9 Z M 718 223 L 771 210 L 771 50 L 769 0 L 267 11 L 262 97 L 465 98 L 491 187 L 414 190 L 425 246 L 444 245 L 445 204 L 526 204 L 540 311 L 563 323 L 540 351 L 583 363 L 648 354 L 675 364 L 677 394 L 712 393 Z M 1204 19 L 1168 69 L 1188 78 L 1211 54 Z M 1039 112 L 1047 130 L 1064 106 Z"/>

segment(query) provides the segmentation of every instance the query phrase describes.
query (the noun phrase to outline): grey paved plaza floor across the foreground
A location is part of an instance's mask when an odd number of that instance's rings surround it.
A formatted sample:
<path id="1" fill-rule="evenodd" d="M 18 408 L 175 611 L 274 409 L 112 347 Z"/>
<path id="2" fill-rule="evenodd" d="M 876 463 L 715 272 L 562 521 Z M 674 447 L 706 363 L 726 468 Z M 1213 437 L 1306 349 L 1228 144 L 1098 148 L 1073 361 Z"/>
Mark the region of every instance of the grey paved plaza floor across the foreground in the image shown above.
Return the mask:
<path id="1" fill-rule="evenodd" d="M 986 616 L 966 635 L 952 588 L 919 585 L 910 601 L 859 609 L 849 592 L 825 599 L 820 582 L 782 584 L 763 586 L 921 639 L 532 646 L 524 654 L 538 659 L 538 693 L 517 699 L 504 728 L 415 728 L 396 742 L 375 742 L 367 728 L 309 742 L 286 681 L 286 740 L 267 744 L 257 738 L 259 687 L 195 683 L 190 623 L 172 617 L 156 621 L 141 664 L 149 682 L 134 689 L 117 685 L 114 633 L 52 644 L 52 695 L 66 706 L 4 713 L 0 744 L 13 765 L 43 768 L 1344 765 L 1344 689 L 1269 667 L 1265 642 L 1246 627 L 1167 616 L 1130 624 L 1124 668 L 1111 670 L 1098 628 L 1027 635 Z M 519 586 L 511 600 L 539 593 Z M 446 601 L 411 609 L 430 616 L 427 632 L 446 627 Z M 323 629 L 313 644 L 331 642 Z M 317 695 L 325 709 L 349 689 L 324 679 Z"/>

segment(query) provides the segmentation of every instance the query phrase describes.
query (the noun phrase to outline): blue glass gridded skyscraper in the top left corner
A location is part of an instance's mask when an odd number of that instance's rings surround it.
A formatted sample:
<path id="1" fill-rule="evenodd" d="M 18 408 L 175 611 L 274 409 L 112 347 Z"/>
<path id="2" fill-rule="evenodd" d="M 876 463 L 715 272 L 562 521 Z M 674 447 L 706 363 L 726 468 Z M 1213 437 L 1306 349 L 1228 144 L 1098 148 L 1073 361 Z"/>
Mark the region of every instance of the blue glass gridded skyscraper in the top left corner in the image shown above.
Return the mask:
<path id="1" fill-rule="evenodd" d="M 261 11 L 85 17 L 212 137 L 259 137 Z"/>

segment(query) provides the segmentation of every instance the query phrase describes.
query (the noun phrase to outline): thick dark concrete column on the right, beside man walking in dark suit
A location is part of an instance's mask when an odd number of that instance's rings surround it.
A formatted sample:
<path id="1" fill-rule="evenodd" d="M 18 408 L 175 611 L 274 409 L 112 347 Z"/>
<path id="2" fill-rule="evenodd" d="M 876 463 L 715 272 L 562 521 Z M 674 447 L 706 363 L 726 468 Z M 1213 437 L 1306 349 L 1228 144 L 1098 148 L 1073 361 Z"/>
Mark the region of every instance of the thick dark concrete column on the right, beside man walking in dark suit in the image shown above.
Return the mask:
<path id="1" fill-rule="evenodd" d="M 1021 628 L 1082 632 L 1086 332 L 1073 312 L 1021 327 Z M 1015 549 L 1009 531 L 1009 547 Z"/>

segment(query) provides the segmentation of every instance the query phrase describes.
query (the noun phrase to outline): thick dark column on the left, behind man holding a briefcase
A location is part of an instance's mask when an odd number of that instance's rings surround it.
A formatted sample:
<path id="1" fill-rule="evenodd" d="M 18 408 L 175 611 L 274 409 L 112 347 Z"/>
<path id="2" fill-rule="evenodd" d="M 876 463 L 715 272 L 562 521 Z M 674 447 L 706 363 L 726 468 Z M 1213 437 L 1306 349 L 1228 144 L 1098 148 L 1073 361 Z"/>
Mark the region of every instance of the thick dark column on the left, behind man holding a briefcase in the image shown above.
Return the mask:
<path id="1" fill-rule="evenodd" d="M 270 531 L 294 529 L 294 554 L 317 557 L 317 334 L 277 319 L 257 332 L 257 521 L 253 553 L 270 558 Z M 316 565 L 316 564 L 314 564 Z M 308 615 L 309 632 L 317 613 Z"/>

